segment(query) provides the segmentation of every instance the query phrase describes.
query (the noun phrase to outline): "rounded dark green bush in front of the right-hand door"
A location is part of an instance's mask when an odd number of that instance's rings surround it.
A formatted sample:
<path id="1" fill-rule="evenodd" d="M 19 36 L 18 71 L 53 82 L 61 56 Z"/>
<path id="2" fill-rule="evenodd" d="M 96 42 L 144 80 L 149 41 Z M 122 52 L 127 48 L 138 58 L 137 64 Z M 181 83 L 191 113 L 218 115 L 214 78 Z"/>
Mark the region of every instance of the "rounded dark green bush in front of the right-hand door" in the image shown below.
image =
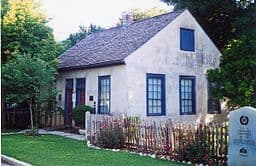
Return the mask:
<path id="1" fill-rule="evenodd" d="M 87 111 L 89 111 L 90 113 L 93 113 L 93 108 L 86 105 L 79 105 L 73 108 L 72 116 L 76 125 L 84 128 L 84 122 L 85 122 L 84 116 L 85 116 L 85 112 Z"/>

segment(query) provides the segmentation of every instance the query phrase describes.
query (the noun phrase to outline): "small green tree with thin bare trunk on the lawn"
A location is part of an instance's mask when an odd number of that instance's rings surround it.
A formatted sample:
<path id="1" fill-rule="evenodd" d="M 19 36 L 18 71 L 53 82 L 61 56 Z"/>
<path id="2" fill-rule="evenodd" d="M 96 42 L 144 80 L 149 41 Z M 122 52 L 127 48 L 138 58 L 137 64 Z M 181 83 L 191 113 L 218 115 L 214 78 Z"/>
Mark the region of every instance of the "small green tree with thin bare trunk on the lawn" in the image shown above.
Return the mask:
<path id="1" fill-rule="evenodd" d="M 33 113 L 44 98 L 56 96 L 54 88 L 55 68 L 38 57 L 16 55 L 2 66 L 2 88 L 7 102 L 27 102 L 34 128 Z M 47 89 L 47 92 L 45 92 Z M 50 95 L 50 96 L 49 96 Z"/>

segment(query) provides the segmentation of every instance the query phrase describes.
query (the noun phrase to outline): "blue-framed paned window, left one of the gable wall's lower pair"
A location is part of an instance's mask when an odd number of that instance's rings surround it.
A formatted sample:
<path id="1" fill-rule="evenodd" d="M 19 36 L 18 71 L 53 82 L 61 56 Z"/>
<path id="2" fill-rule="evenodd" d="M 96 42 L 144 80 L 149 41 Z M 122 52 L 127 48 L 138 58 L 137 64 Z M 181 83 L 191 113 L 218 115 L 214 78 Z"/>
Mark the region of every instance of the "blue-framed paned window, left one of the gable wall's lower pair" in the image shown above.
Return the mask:
<path id="1" fill-rule="evenodd" d="M 165 115 L 165 75 L 147 74 L 147 115 Z"/>

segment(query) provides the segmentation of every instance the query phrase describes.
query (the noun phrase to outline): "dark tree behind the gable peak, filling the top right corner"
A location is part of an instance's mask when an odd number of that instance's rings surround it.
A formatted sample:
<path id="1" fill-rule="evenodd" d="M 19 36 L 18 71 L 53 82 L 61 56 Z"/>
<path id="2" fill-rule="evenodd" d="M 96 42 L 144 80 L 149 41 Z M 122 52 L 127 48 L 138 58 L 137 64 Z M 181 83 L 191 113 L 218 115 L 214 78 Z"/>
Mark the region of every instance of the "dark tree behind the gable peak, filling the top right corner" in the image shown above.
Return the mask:
<path id="1" fill-rule="evenodd" d="M 256 27 L 256 3 L 248 0 L 162 0 L 174 9 L 188 8 L 219 49 Z"/>

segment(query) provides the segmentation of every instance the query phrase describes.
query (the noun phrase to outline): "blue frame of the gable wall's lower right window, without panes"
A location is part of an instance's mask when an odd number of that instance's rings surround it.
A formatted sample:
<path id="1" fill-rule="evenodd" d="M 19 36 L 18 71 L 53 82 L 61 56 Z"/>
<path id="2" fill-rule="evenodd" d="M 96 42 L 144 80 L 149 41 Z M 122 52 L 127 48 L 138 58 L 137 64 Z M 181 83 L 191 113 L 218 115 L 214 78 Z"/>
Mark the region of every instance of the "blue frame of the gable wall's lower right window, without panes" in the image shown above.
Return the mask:
<path id="1" fill-rule="evenodd" d="M 182 112 L 182 98 L 181 98 L 181 81 L 182 80 L 192 81 L 192 112 Z M 179 76 L 179 101 L 180 101 L 180 115 L 196 115 L 196 77 L 195 76 Z"/>

